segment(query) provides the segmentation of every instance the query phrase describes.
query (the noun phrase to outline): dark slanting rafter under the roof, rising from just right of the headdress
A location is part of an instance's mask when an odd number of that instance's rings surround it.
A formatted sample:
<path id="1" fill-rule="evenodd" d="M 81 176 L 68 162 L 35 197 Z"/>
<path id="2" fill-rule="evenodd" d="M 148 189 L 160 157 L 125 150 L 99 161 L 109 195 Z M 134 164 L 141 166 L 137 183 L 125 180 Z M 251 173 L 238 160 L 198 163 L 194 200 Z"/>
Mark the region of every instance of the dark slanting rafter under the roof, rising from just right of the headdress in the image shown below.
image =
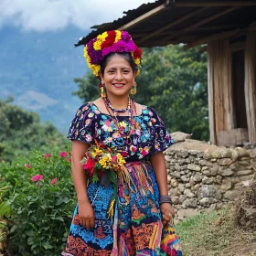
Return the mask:
<path id="1" fill-rule="evenodd" d="M 140 43 L 144 42 L 144 40 L 146 40 L 150 37 L 155 37 L 156 35 L 160 34 L 161 32 L 165 31 L 166 29 L 169 29 L 171 27 L 175 27 L 177 24 L 187 20 L 189 17 L 196 16 L 197 14 L 206 11 L 206 9 L 208 9 L 208 8 L 199 8 L 199 9 L 193 11 L 193 12 L 188 13 L 185 16 L 181 16 L 181 17 L 177 18 L 176 20 L 174 20 L 173 22 L 165 25 L 164 27 L 161 27 L 161 28 L 155 30 L 154 32 L 148 33 L 147 36 L 138 40 L 137 44 L 140 44 Z"/>

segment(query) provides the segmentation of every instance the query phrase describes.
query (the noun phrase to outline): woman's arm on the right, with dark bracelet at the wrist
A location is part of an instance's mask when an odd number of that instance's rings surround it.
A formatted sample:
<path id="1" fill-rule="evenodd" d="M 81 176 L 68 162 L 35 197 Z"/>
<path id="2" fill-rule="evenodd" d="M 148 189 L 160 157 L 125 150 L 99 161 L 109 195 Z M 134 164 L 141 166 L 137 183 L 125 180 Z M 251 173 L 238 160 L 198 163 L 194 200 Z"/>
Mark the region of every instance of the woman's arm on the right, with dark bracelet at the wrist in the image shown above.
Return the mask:
<path id="1" fill-rule="evenodd" d="M 160 197 L 168 196 L 167 171 L 165 165 L 165 155 L 163 152 L 157 152 L 150 156 L 150 162 L 154 169 L 155 180 L 159 188 Z M 175 210 L 170 203 L 162 203 L 160 205 L 163 216 L 163 224 L 165 225 L 171 217 L 175 216 Z M 171 215 L 171 216 L 170 216 Z"/>

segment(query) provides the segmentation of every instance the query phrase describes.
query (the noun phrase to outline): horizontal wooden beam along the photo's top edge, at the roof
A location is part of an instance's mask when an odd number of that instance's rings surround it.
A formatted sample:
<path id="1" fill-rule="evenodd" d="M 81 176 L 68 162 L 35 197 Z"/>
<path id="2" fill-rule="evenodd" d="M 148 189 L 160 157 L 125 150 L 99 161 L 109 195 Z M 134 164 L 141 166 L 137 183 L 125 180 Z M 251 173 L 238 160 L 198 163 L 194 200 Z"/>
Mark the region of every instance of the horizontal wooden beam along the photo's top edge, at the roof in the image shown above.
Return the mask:
<path id="1" fill-rule="evenodd" d="M 176 7 L 219 7 L 219 6 L 255 6 L 255 1 L 202 1 L 202 2 L 192 2 L 187 1 L 184 3 L 174 2 L 170 4 Z"/>

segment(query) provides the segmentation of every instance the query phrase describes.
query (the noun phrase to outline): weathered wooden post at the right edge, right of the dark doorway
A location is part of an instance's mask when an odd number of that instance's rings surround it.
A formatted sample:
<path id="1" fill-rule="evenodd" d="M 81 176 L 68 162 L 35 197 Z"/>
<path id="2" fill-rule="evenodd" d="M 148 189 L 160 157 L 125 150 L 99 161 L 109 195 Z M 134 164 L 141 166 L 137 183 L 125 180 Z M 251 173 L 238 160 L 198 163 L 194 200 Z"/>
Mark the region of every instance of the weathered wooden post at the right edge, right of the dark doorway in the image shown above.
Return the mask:
<path id="1" fill-rule="evenodd" d="M 250 31 L 245 44 L 245 107 L 248 136 L 251 144 L 256 144 L 256 32 Z"/>

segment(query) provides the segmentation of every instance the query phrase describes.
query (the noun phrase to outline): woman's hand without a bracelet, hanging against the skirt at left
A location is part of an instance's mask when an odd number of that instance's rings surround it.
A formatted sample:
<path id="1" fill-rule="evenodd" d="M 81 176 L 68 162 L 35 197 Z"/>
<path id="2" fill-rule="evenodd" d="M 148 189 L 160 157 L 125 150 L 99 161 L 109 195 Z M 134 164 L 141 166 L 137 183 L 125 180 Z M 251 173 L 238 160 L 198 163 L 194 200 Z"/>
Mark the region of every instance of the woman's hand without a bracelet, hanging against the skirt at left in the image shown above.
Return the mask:
<path id="1" fill-rule="evenodd" d="M 80 225 L 82 225 L 84 228 L 95 228 L 95 215 L 90 201 L 79 201 L 79 219 Z"/>

